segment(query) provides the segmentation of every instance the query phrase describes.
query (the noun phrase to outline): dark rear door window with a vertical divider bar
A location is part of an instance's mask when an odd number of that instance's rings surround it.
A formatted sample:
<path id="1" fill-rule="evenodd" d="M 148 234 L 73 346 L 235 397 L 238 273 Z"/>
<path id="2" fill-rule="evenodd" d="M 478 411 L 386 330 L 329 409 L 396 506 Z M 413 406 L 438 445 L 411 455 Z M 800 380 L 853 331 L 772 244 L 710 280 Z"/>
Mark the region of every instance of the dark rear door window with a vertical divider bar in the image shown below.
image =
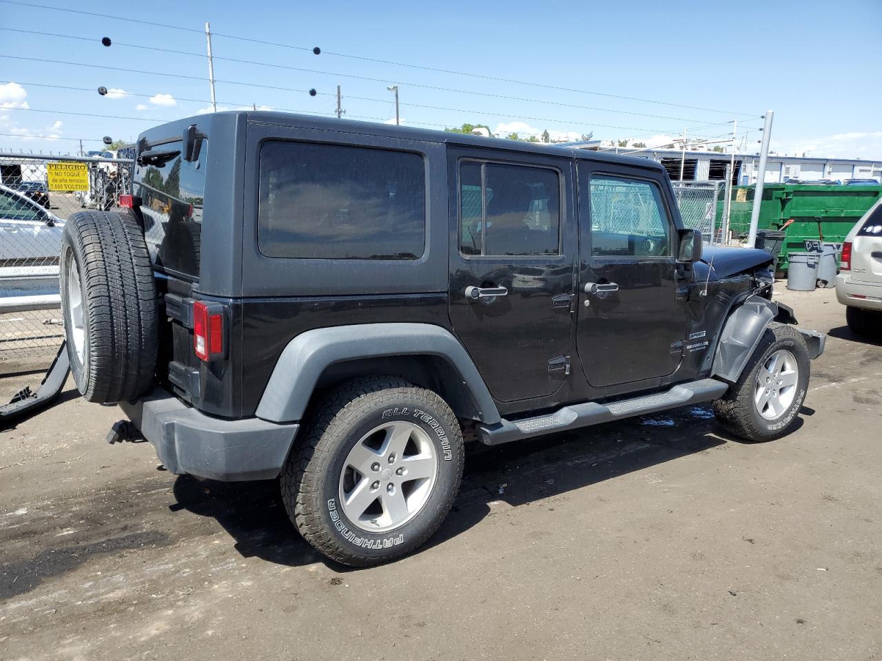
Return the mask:
<path id="1" fill-rule="evenodd" d="M 560 179 L 545 167 L 460 163 L 463 255 L 557 255 Z"/>

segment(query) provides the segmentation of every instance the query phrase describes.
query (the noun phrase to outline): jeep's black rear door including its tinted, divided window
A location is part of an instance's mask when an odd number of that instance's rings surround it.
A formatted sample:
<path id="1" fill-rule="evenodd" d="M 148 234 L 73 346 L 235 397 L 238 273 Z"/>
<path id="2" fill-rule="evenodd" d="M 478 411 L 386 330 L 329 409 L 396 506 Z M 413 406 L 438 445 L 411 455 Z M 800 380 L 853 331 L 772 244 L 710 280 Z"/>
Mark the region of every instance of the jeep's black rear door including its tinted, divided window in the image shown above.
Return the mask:
<path id="1" fill-rule="evenodd" d="M 571 161 L 448 153 L 453 331 L 497 401 L 551 395 L 570 373 Z"/>

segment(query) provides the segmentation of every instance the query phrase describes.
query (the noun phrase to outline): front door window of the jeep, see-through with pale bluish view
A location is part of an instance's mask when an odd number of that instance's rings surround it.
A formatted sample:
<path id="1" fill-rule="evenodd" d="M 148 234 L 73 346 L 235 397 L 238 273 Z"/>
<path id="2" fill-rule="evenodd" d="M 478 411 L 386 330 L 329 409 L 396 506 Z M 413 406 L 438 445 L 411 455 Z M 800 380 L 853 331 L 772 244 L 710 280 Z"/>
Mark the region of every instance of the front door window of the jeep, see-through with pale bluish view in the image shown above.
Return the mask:
<path id="1" fill-rule="evenodd" d="M 670 223 L 654 182 L 591 177 L 591 254 L 670 256 Z"/>

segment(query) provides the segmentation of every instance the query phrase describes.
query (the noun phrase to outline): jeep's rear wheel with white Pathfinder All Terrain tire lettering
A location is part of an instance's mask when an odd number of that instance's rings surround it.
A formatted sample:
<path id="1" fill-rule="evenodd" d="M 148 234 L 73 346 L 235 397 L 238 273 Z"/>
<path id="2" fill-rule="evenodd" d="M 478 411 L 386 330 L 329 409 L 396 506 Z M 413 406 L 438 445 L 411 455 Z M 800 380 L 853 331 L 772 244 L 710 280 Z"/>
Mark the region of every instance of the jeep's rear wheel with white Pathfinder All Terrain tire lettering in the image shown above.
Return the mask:
<path id="1" fill-rule="evenodd" d="M 332 560 L 366 567 L 415 550 L 462 478 L 460 425 L 431 390 L 356 379 L 310 415 L 281 475 L 288 516 Z"/>

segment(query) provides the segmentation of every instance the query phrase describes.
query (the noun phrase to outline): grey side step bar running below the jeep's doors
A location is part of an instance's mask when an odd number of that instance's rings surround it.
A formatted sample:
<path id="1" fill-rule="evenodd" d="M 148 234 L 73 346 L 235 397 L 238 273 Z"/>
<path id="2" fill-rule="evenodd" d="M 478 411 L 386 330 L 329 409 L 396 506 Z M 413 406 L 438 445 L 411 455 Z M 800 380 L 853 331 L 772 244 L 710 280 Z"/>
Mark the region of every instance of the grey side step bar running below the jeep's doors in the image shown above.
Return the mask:
<path id="1" fill-rule="evenodd" d="M 585 402 L 564 406 L 556 412 L 524 420 L 505 420 L 496 425 L 479 425 L 478 435 L 486 445 L 499 445 L 542 434 L 554 434 L 567 429 L 589 427 L 611 420 L 623 420 L 635 415 L 709 402 L 729 390 L 729 383 L 716 379 L 702 379 L 681 383 L 665 392 L 622 399 L 609 404 Z"/>

